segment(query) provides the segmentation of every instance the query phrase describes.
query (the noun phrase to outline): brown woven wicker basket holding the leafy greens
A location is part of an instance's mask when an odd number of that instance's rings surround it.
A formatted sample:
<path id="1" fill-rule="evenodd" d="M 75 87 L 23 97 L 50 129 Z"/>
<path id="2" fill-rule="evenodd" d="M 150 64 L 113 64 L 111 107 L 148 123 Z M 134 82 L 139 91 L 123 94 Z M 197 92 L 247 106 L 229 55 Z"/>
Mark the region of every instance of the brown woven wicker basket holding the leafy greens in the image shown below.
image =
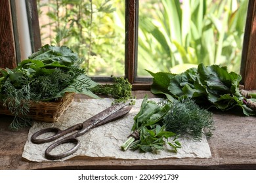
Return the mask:
<path id="1" fill-rule="evenodd" d="M 62 98 L 53 102 L 32 101 L 28 116 L 39 122 L 56 122 L 72 101 L 74 101 L 74 95 L 75 93 L 66 93 Z M 12 112 L 3 103 L 0 103 L 0 114 L 13 116 Z"/>

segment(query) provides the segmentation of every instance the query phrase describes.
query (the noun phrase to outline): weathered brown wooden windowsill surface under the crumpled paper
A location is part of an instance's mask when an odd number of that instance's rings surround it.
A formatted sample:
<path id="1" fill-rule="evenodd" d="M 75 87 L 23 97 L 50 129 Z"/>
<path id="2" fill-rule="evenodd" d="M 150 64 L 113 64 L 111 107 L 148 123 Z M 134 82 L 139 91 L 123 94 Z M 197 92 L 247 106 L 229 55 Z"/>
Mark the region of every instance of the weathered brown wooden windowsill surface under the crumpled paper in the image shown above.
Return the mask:
<path id="1" fill-rule="evenodd" d="M 136 91 L 142 99 L 150 92 Z M 86 98 L 76 95 L 75 100 Z M 216 130 L 208 140 L 212 157 L 167 159 L 115 159 L 77 157 L 67 161 L 37 163 L 22 158 L 28 139 L 28 128 L 10 131 L 11 117 L 0 116 L 0 169 L 256 169 L 256 125 L 254 116 L 239 116 L 228 112 L 213 115 Z"/>

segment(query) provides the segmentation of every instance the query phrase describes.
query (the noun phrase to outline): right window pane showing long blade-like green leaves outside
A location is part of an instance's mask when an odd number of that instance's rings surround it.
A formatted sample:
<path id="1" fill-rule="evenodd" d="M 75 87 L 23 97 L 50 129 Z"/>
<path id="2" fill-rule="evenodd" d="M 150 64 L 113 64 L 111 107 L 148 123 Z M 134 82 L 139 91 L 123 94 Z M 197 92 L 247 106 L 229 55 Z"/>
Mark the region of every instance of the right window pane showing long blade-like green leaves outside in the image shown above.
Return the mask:
<path id="1" fill-rule="evenodd" d="M 140 0 L 137 76 L 223 65 L 240 73 L 247 0 Z"/>

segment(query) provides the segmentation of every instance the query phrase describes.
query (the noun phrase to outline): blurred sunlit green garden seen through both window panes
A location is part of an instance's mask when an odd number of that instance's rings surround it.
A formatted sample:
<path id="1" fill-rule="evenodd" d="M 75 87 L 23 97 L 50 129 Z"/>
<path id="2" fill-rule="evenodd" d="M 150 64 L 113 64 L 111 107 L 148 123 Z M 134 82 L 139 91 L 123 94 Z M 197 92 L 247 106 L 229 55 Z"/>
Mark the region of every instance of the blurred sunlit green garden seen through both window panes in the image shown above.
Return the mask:
<path id="1" fill-rule="evenodd" d="M 240 73 L 247 0 L 139 0 L 138 76 L 227 66 Z M 66 45 L 89 76 L 123 76 L 125 0 L 37 0 L 42 44 Z"/>

